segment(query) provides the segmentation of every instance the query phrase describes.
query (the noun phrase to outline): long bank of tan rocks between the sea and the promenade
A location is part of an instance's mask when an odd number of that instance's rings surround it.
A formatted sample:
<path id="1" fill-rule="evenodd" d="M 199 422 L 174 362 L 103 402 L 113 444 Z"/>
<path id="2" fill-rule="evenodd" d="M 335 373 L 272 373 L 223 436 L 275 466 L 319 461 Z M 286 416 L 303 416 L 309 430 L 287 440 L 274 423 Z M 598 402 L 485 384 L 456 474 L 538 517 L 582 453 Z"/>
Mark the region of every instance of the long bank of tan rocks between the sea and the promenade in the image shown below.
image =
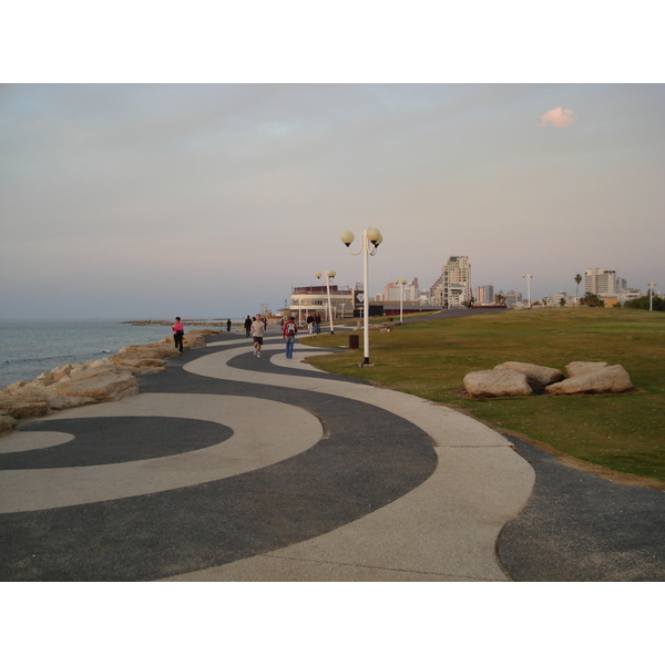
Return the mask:
<path id="1" fill-rule="evenodd" d="M 205 347 L 205 338 L 218 330 L 192 330 L 183 348 Z M 11 432 L 20 420 L 51 411 L 103 401 L 117 401 L 139 392 L 137 376 L 165 369 L 167 358 L 180 356 L 173 339 L 121 349 L 114 356 L 64 365 L 39 375 L 32 381 L 17 381 L 0 390 L 0 436 Z"/>

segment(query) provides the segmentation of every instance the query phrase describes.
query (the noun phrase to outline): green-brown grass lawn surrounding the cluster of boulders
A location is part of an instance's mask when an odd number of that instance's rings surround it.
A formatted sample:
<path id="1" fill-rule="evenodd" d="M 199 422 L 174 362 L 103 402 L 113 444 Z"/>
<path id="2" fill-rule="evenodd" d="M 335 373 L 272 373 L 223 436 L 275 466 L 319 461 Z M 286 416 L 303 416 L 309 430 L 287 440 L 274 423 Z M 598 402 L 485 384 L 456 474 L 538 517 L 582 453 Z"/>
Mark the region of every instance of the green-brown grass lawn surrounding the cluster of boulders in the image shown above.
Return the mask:
<path id="1" fill-rule="evenodd" d="M 381 319 L 376 319 L 381 320 Z M 490 427 L 556 452 L 562 461 L 623 482 L 665 489 L 665 313 L 618 308 L 536 308 L 370 330 L 360 349 L 318 356 L 311 365 L 451 406 Z M 348 347 L 348 331 L 303 344 Z M 623 365 L 635 390 L 623 395 L 469 399 L 470 371 L 508 360 L 555 367 L 574 360 Z M 625 475 L 628 474 L 628 475 Z M 632 478 L 633 477 L 633 478 Z M 635 478 L 638 477 L 638 478 Z"/>

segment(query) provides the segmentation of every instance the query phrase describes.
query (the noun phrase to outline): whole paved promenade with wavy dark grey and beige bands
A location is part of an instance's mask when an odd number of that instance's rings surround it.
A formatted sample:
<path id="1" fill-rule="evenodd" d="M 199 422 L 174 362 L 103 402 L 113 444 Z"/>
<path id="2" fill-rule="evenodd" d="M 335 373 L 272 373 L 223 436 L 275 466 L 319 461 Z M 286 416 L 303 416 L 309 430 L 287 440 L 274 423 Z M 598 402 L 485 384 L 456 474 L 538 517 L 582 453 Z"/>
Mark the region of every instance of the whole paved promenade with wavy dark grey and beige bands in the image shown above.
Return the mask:
<path id="1" fill-rule="evenodd" d="M 219 334 L 137 396 L 0 439 L 0 580 L 665 580 L 665 493 L 317 352 Z"/>

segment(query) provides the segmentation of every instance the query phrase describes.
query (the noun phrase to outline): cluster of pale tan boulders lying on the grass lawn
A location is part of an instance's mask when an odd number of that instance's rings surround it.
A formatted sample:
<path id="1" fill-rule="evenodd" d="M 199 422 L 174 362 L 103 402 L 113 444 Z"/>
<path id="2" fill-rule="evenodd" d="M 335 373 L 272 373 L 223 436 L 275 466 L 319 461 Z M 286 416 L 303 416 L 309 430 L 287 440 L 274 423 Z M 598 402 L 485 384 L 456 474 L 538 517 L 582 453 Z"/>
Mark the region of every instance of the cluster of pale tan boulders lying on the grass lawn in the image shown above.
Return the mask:
<path id="1" fill-rule="evenodd" d="M 502 362 L 494 369 L 472 371 L 464 377 L 469 397 L 522 397 L 546 395 L 600 395 L 627 392 L 633 388 L 621 365 L 575 361 L 565 366 L 565 375 L 552 367 L 529 362 Z"/>

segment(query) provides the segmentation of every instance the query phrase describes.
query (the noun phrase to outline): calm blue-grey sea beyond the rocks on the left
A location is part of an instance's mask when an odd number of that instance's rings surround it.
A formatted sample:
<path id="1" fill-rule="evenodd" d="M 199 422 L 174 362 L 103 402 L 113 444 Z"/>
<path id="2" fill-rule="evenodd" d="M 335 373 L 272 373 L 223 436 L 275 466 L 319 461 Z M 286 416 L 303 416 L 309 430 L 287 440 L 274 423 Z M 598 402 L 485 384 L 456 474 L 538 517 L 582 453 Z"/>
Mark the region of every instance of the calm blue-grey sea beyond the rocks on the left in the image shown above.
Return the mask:
<path id="1" fill-rule="evenodd" d="M 0 319 L 0 389 L 170 336 L 170 326 L 134 326 L 121 319 Z"/>

